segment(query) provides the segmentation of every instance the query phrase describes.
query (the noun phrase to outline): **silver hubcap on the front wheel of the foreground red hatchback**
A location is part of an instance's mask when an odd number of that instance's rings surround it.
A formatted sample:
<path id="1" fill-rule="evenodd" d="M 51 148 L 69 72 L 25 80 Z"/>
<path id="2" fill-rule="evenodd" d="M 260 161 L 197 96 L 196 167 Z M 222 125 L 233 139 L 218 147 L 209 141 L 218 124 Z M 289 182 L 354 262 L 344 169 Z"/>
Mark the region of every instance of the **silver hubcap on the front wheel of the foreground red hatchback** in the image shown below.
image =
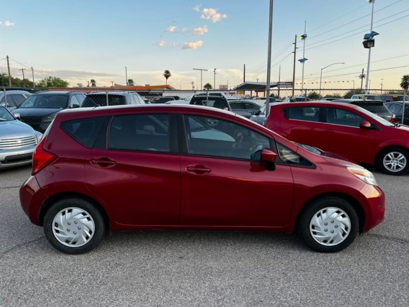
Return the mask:
<path id="1" fill-rule="evenodd" d="M 311 235 L 316 242 L 322 245 L 337 245 L 348 237 L 350 231 L 351 221 L 347 213 L 339 208 L 322 209 L 311 218 Z"/>

